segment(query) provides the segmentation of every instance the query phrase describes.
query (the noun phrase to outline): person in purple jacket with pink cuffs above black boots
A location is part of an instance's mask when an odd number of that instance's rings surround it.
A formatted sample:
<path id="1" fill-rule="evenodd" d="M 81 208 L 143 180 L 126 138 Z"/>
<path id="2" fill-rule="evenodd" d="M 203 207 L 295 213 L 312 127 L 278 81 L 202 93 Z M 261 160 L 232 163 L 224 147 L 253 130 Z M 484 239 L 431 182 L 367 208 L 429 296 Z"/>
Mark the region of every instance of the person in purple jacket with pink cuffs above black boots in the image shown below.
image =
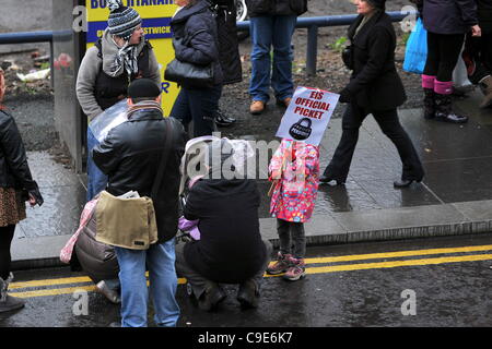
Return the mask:
<path id="1" fill-rule="evenodd" d="M 422 74 L 424 118 L 464 123 L 468 117 L 453 111 L 453 71 L 465 35 L 480 36 L 476 0 L 414 0 L 427 31 L 427 60 Z"/>

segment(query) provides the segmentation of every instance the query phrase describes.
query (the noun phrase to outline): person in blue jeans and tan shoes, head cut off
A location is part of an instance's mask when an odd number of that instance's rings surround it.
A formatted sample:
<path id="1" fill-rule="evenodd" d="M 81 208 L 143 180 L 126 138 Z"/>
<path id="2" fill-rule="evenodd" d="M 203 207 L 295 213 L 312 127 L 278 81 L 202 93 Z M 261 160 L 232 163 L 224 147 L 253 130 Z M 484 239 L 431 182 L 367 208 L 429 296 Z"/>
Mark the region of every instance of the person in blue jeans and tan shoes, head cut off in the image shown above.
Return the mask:
<path id="1" fill-rule="evenodd" d="M 307 11 L 307 0 L 246 0 L 253 40 L 249 111 L 265 110 L 273 88 L 277 103 L 289 106 L 294 93 L 292 82 L 292 35 L 297 15 Z M 273 46 L 273 67 L 270 49 Z M 270 74 L 271 67 L 273 71 Z M 271 79 L 270 79 L 271 75 Z"/>

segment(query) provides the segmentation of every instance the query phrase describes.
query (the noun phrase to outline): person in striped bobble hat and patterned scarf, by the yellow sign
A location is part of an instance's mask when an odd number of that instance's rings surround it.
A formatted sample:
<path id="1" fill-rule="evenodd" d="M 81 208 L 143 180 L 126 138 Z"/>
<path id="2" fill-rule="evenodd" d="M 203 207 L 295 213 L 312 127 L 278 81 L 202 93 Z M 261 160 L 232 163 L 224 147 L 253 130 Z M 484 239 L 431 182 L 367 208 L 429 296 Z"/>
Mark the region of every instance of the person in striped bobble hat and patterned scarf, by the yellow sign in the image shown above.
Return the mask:
<path id="1" fill-rule="evenodd" d="M 157 59 L 151 45 L 143 38 L 139 13 L 132 8 L 124 7 L 121 0 L 108 1 L 108 27 L 101 39 L 85 52 L 77 76 L 77 98 L 89 121 L 124 99 L 130 81 L 147 77 L 161 84 Z M 97 143 L 91 128 L 87 128 L 87 202 L 107 184 L 107 177 L 95 166 L 90 155 Z M 90 253 L 86 257 L 97 261 Z M 83 260 L 81 264 L 84 266 L 87 262 Z M 114 272 L 114 268 L 105 269 L 103 264 L 101 268 L 106 275 Z M 96 287 L 109 301 L 119 302 L 117 279 L 101 280 Z"/>

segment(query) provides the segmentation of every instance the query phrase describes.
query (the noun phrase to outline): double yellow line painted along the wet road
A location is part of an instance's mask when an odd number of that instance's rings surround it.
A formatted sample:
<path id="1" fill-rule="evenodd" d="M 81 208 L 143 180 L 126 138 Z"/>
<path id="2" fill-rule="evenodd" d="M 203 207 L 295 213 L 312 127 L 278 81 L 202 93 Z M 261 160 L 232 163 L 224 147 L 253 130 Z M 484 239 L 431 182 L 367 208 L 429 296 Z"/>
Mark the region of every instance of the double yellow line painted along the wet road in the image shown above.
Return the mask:
<path id="1" fill-rule="evenodd" d="M 368 263 L 350 263 L 350 264 L 335 264 L 326 266 L 306 267 L 307 274 L 326 274 L 336 272 L 349 272 L 349 270 L 364 270 L 364 269 L 378 269 L 378 268 L 395 268 L 402 266 L 423 266 L 423 265 L 436 265 L 444 263 L 460 263 L 460 262 L 477 262 L 477 261 L 492 261 L 492 253 L 479 253 L 470 254 L 473 252 L 487 252 L 492 251 L 492 245 L 477 245 L 477 246 L 464 246 L 464 248 L 446 248 L 446 249 L 427 249 L 427 250 L 410 250 L 398 252 L 383 252 L 383 253 L 370 253 L 370 254 L 353 254 L 341 255 L 319 258 L 306 258 L 306 265 L 312 264 L 329 264 L 341 262 L 354 262 L 354 261 L 371 261 L 383 260 L 383 262 L 368 262 Z M 461 255 L 449 255 L 462 253 Z M 466 253 L 466 254 L 464 254 Z M 446 256 L 431 257 L 431 258 L 408 258 L 397 261 L 385 261 L 387 258 L 398 257 L 414 257 L 424 255 L 441 255 Z M 270 275 L 266 275 L 271 277 Z M 77 287 L 66 288 L 49 288 L 42 290 L 21 291 L 26 288 L 46 288 L 60 285 L 73 285 L 73 284 L 87 284 L 91 279 L 86 276 L 82 277 L 68 277 L 58 279 L 45 279 L 33 280 L 24 282 L 12 282 L 10 289 L 13 291 L 12 296 L 20 298 L 33 298 L 45 296 L 58 296 L 58 294 L 72 294 L 78 290 L 95 291 L 94 285 L 81 285 Z M 178 284 L 186 284 L 186 279 L 179 278 Z"/>

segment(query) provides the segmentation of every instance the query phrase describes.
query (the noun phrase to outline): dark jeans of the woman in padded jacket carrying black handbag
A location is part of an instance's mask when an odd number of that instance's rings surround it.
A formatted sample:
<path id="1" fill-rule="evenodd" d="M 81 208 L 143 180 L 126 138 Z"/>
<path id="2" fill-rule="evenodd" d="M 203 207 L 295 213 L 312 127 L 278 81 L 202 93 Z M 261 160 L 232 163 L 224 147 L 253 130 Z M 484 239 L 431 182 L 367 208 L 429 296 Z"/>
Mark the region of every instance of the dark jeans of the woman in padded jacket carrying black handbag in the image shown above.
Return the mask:
<path id="1" fill-rule="evenodd" d="M 212 135 L 215 132 L 214 117 L 221 95 L 222 85 L 209 88 L 181 87 L 169 117 L 178 119 L 186 132 L 189 123 L 194 122 L 194 134 L 188 133 L 190 139 Z"/>

